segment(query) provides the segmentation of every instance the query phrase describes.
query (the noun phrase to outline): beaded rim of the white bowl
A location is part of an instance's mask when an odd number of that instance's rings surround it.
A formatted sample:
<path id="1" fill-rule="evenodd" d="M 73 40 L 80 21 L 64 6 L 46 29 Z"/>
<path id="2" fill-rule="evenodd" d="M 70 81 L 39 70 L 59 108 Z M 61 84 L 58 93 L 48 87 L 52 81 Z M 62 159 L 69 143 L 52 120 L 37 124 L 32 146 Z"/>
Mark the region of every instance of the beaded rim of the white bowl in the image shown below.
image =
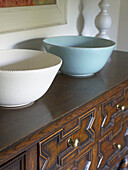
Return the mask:
<path id="1" fill-rule="evenodd" d="M 30 73 L 30 72 L 40 72 L 42 70 L 47 70 L 49 68 L 54 68 L 54 67 L 57 67 L 59 65 L 62 64 L 62 59 L 55 55 L 55 54 L 51 54 L 51 53 L 48 53 L 48 52 L 45 52 L 45 51 L 39 51 L 39 50 L 32 50 L 32 49 L 0 49 L 0 51 L 31 51 L 31 52 L 40 52 L 40 53 L 45 53 L 45 54 L 48 54 L 50 56 L 53 56 L 54 58 L 57 58 L 58 59 L 58 63 L 55 64 L 55 65 L 52 65 L 52 66 L 49 66 L 49 67 L 45 67 L 45 68 L 39 68 L 39 69 L 25 69 L 25 70 L 9 70 L 9 69 L 5 69 L 5 70 L 2 70 L 0 69 L 0 73 Z"/>

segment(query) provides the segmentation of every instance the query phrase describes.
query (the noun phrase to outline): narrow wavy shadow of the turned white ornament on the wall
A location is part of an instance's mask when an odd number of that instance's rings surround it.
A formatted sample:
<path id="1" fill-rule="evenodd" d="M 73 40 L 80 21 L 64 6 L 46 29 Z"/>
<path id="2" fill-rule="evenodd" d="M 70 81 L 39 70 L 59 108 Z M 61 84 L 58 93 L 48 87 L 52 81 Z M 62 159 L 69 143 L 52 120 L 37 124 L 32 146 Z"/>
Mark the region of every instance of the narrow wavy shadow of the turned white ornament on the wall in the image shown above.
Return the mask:
<path id="1" fill-rule="evenodd" d="M 84 10 L 83 0 L 80 0 L 78 5 L 78 10 L 79 10 L 79 16 L 77 18 L 76 26 L 77 26 L 78 34 L 82 35 L 84 25 L 85 25 L 84 16 L 83 16 L 83 10 Z"/>

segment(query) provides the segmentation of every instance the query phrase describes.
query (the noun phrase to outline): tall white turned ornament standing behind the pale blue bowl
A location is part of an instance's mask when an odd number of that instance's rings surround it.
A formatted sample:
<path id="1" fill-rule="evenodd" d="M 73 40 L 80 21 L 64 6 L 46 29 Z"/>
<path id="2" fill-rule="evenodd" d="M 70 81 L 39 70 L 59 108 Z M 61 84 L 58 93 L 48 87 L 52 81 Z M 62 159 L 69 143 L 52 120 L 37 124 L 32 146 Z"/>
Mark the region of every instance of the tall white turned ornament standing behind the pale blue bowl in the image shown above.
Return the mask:
<path id="1" fill-rule="evenodd" d="M 99 33 L 96 35 L 96 37 L 110 39 L 107 34 L 107 31 L 112 23 L 111 17 L 108 14 L 108 9 L 110 7 L 109 0 L 101 0 L 99 3 L 99 7 L 101 9 L 101 12 L 96 16 L 95 19 L 95 25 L 99 30 Z"/>

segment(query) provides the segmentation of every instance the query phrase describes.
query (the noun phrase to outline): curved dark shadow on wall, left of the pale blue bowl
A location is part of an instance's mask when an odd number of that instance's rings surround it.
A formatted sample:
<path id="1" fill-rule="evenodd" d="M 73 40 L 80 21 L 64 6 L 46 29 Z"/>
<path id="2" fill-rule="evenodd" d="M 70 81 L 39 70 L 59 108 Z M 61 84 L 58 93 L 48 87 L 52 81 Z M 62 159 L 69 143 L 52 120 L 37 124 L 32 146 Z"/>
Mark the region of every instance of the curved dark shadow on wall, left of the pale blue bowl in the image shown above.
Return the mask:
<path id="1" fill-rule="evenodd" d="M 12 48 L 45 51 L 43 47 L 43 39 L 45 38 L 36 38 L 36 39 L 22 41 L 22 42 L 15 44 Z"/>

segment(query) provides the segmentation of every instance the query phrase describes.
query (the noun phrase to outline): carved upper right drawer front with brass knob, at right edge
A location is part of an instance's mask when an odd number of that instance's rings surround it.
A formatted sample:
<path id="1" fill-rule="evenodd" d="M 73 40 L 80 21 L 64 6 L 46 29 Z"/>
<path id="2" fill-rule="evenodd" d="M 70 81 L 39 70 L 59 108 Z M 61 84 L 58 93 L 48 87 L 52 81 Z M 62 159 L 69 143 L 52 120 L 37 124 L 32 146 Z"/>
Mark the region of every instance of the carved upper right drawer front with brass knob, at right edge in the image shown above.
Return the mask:
<path id="1" fill-rule="evenodd" d="M 117 110 L 116 106 L 125 105 L 125 112 Z M 122 119 L 128 114 L 128 88 L 118 91 L 114 96 L 112 96 L 107 101 L 101 104 L 101 135 L 106 131 L 110 130 L 114 124 L 116 124 L 116 119 Z M 118 130 L 116 128 L 116 133 Z"/>

